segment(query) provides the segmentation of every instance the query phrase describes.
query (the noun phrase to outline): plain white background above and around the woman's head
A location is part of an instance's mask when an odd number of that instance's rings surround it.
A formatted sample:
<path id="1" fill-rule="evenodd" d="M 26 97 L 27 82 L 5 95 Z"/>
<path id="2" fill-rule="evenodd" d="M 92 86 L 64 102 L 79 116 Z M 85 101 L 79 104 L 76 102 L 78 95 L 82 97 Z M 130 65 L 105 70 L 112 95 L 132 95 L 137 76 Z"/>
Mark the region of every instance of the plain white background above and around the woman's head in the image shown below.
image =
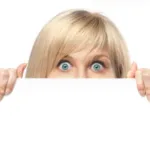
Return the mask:
<path id="1" fill-rule="evenodd" d="M 0 0 L 0 68 L 28 61 L 34 40 L 54 15 L 84 8 L 107 15 L 124 35 L 132 60 L 150 68 L 149 0 Z"/>

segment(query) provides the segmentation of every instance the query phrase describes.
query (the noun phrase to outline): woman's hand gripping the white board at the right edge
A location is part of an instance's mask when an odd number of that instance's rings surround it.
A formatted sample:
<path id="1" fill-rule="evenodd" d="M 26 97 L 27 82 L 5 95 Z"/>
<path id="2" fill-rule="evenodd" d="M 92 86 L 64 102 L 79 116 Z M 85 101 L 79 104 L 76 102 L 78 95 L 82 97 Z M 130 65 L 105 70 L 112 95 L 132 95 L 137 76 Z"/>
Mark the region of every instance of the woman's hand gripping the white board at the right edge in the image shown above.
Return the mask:
<path id="1" fill-rule="evenodd" d="M 127 78 L 135 78 L 139 94 L 146 95 L 150 101 L 150 69 L 138 69 L 137 64 L 133 63 Z"/>

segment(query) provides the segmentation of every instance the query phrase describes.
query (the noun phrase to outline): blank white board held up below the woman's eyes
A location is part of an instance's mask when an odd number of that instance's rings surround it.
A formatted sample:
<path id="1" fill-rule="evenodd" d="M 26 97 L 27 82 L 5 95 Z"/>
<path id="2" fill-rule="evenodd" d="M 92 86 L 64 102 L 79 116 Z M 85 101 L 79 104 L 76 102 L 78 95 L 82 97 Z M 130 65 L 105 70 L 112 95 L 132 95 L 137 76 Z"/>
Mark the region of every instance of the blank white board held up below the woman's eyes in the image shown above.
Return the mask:
<path id="1" fill-rule="evenodd" d="M 0 103 L 0 150 L 149 150 L 132 79 L 20 79 Z"/>

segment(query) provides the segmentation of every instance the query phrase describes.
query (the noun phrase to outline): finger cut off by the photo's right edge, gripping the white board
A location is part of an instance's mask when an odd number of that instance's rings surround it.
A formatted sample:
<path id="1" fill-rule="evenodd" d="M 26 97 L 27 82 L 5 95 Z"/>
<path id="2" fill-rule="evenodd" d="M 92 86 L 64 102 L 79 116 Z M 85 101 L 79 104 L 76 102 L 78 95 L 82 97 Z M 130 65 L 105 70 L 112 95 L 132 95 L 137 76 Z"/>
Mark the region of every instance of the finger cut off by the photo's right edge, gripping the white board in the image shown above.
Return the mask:
<path id="1" fill-rule="evenodd" d="M 146 97 L 150 101 L 150 70 L 143 72 L 143 82 L 145 85 Z"/>

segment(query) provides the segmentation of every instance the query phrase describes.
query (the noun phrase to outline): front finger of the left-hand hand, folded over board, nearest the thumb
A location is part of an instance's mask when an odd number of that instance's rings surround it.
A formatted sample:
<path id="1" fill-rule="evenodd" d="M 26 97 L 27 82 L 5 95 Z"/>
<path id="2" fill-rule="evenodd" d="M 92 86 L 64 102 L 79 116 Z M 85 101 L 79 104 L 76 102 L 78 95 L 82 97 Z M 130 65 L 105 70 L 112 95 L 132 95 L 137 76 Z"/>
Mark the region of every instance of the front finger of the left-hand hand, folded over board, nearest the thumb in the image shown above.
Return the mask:
<path id="1" fill-rule="evenodd" d="M 12 92 L 14 85 L 16 83 L 16 80 L 17 80 L 16 69 L 8 69 L 8 72 L 9 72 L 9 79 L 8 79 L 6 91 L 5 91 L 6 95 Z"/>

